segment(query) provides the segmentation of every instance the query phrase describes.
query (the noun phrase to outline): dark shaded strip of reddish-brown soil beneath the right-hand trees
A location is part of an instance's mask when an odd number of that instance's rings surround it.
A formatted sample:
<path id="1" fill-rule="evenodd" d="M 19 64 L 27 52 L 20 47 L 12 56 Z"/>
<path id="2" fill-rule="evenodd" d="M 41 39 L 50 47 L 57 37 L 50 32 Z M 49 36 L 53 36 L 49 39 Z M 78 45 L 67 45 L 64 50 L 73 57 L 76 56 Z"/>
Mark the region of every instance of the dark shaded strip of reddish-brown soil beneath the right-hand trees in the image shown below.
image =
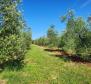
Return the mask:
<path id="1" fill-rule="evenodd" d="M 91 66 L 91 61 L 84 60 L 79 56 L 70 55 L 66 53 L 64 50 L 59 49 L 44 49 L 45 51 L 52 52 L 54 56 L 63 58 L 65 61 L 72 61 L 76 63 L 83 63 L 87 66 Z"/>

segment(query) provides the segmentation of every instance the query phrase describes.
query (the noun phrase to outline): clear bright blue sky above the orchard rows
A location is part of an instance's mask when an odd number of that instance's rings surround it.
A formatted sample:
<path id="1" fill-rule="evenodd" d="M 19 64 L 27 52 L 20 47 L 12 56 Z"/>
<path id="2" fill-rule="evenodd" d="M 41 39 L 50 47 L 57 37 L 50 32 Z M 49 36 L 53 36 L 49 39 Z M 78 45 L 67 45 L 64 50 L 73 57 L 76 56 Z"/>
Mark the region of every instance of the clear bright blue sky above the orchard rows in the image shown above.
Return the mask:
<path id="1" fill-rule="evenodd" d="M 23 16 L 32 28 L 33 39 L 46 35 L 51 24 L 62 32 L 65 24 L 60 22 L 60 16 L 68 9 L 74 9 L 76 16 L 86 19 L 91 14 L 91 0 L 23 0 Z"/>

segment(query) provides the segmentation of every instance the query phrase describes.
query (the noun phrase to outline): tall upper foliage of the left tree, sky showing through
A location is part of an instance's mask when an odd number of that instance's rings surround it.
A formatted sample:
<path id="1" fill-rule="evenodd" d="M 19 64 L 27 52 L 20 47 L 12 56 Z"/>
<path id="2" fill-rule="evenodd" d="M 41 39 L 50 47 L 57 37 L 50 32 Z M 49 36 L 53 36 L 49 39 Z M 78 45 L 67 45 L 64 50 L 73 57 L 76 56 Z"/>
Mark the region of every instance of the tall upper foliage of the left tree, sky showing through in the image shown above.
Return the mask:
<path id="1" fill-rule="evenodd" d="M 0 0 L 0 36 L 19 35 L 23 28 L 21 13 L 18 11 L 19 0 Z"/>

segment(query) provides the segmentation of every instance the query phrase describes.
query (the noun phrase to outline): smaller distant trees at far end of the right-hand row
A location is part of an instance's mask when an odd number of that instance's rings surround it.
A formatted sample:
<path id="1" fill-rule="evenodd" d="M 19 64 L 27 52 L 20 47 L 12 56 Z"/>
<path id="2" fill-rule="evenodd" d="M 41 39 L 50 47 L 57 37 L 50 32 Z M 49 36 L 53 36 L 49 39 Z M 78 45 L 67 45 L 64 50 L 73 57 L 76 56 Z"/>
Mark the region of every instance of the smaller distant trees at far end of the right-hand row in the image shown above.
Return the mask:
<path id="1" fill-rule="evenodd" d="M 57 47 L 58 45 L 58 32 L 55 30 L 55 26 L 51 25 L 48 28 L 47 36 L 40 37 L 33 41 L 34 44 L 39 46 Z"/>

